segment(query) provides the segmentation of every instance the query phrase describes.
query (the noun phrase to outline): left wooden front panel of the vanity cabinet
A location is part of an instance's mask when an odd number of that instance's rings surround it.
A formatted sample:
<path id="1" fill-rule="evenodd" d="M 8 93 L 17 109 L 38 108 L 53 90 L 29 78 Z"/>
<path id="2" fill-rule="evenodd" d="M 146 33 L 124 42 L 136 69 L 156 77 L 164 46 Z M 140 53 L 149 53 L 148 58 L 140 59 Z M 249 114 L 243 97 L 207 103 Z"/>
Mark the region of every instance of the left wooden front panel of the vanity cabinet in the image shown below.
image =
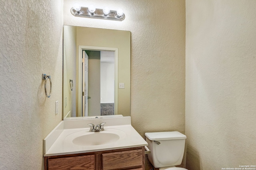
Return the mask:
<path id="1" fill-rule="evenodd" d="M 48 159 L 48 170 L 94 170 L 95 155 Z"/>

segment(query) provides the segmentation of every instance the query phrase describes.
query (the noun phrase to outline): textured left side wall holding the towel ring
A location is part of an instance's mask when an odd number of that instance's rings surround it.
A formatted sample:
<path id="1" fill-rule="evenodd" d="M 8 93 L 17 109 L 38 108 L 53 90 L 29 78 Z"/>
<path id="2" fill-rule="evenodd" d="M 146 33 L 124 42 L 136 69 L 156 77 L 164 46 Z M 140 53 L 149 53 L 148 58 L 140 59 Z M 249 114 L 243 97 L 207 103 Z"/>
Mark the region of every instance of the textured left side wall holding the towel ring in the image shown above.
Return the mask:
<path id="1" fill-rule="evenodd" d="M 0 0 L 0 9 L 0 169 L 40 170 L 43 139 L 62 119 L 63 1 Z"/>

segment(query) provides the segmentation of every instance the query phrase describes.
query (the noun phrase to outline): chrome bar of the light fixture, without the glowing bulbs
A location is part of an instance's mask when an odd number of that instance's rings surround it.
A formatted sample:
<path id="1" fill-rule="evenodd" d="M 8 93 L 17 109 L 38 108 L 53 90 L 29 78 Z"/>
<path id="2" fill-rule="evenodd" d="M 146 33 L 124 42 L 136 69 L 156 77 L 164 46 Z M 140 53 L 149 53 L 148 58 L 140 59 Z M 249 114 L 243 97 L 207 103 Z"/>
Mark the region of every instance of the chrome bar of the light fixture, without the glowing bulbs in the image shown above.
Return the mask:
<path id="1" fill-rule="evenodd" d="M 116 11 L 110 10 L 110 13 L 105 16 L 102 9 L 95 10 L 94 13 L 91 13 L 87 7 L 81 7 L 80 11 L 74 10 L 72 7 L 70 10 L 71 14 L 76 17 L 86 17 L 86 18 L 96 18 L 96 19 L 103 19 L 103 20 L 114 20 L 114 21 L 122 21 L 125 18 L 125 15 L 118 16 Z"/>

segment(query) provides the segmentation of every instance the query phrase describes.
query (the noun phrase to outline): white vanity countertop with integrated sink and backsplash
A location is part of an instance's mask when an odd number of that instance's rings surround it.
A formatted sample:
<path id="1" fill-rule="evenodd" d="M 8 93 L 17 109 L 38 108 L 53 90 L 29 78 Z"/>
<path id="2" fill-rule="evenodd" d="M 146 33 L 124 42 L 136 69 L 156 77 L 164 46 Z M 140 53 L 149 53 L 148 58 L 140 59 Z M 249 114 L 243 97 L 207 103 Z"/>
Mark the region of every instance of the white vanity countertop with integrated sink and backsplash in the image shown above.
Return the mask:
<path id="1" fill-rule="evenodd" d="M 88 124 L 106 122 L 104 131 L 90 132 Z M 132 127 L 131 117 L 64 120 L 44 139 L 44 156 L 80 154 L 148 145 Z"/>

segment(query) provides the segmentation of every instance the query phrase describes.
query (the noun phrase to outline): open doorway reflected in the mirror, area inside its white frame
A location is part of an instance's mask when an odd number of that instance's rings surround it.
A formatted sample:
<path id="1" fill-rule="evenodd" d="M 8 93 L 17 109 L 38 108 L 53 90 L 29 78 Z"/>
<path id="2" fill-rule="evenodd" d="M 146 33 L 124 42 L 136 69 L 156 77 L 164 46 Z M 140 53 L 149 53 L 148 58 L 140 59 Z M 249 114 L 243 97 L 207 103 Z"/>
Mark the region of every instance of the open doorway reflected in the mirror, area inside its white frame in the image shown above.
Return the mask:
<path id="1" fill-rule="evenodd" d="M 114 51 L 82 54 L 82 116 L 114 115 Z"/>

